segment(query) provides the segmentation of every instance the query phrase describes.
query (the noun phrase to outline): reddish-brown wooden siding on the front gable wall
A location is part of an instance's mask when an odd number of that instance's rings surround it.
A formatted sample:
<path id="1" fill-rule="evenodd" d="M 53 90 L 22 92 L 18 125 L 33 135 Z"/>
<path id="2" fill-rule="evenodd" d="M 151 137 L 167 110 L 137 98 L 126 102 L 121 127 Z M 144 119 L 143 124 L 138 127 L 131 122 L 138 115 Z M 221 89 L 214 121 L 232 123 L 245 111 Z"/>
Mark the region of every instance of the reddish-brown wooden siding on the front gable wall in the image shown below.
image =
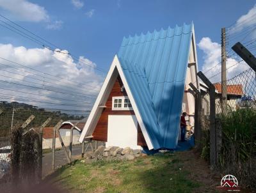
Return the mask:
<path id="1" fill-rule="evenodd" d="M 106 102 L 106 108 L 103 109 L 102 114 L 100 115 L 99 121 L 95 127 L 93 132 L 93 140 L 96 141 L 107 141 L 108 140 L 108 116 L 113 114 L 120 114 L 120 115 L 133 115 L 134 111 L 113 111 L 112 110 L 112 97 L 113 96 L 127 96 L 126 91 L 122 92 L 121 88 L 123 86 L 122 80 L 120 76 L 117 77 L 115 84 L 109 94 L 108 100 Z M 138 145 L 147 146 L 143 134 L 140 130 L 138 130 Z M 144 140 L 144 141 L 143 141 Z M 140 144 L 139 144 L 140 143 Z"/>

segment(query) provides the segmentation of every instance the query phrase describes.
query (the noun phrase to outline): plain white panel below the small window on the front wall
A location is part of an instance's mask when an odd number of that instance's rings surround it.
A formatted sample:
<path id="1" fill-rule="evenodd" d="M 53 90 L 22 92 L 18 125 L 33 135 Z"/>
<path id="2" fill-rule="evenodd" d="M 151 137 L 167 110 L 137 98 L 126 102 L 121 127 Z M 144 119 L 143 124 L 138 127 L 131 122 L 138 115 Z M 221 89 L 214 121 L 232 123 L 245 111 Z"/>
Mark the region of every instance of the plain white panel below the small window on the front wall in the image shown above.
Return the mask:
<path id="1" fill-rule="evenodd" d="M 137 145 L 137 125 L 138 121 L 135 115 L 109 115 L 106 146 L 141 148 Z"/>

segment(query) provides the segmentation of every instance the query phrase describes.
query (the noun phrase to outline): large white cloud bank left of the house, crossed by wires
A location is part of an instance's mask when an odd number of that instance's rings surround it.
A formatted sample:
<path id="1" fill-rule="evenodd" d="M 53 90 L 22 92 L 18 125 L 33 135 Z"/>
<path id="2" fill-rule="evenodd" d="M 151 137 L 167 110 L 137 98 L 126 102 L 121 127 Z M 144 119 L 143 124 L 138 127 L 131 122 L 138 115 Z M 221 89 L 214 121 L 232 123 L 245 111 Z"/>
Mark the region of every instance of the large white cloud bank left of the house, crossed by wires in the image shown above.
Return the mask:
<path id="1" fill-rule="evenodd" d="M 33 68 L 33 69 L 45 72 L 45 73 L 39 73 L 39 72 L 36 72 L 35 70 L 31 70 L 23 66 L 15 65 L 8 61 L 0 59 L 0 88 L 15 89 L 17 91 L 37 94 L 33 96 L 26 93 L 19 93 L 19 92 L 0 89 L 0 100 L 1 100 L 1 95 L 6 94 L 6 95 L 13 96 L 13 98 L 17 98 L 17 97 L 18 98 L 20 97 L 36 98 L 37 100 L 40 100 L 42 102 L 54 102 L 54 103 L 61 103 L 61 104 L 77 104 L 77 103 L 81 104 L 81 105 L 77 105 L 77 107 L 52 105 L 51 108 L 54 108 L 54 109 L 72 109 L 72 110 L 90 109 L 90 107 L 87 107 L 87 106 L 93 105 L 95 96 L 97 95 L 103 81 L 103 77 L 95 72 L 95 68 L 90 67 L 90 66 L 97 66 L 97 65 L 92 61 L 90 61 L 90 59 L 85 58 L 84 56 L 81 56 L 79 58 L 79 61 L 75 62 L 72 56 L 68 54 L 67 50 L 60 50 L 60 51 L 63 53 L 65 52 L 67 54 L 63 54 L 60 52 L 52 52 L 51 50 L 46 48 L 45 49 L 39 49 L 39 48 L 27 49 L 26 47 L 22 47 L 22 46 L 14 47 L 12 44 L 0 44 L 1 58 L 6 58 L 11 61 L 20 63 L 22 65 L 26 65 L 29 68 Z M 5 64 L 8 66 L 4 66 L 1 64 Z M 11 68 L 9 66 L 14 66 L 17 69 Z M 13 73 L 5 72 L 3 70 L 7 70 Z M 24 70 L 26 72 L 24 72 Z M 19 75 L 20 73 L 22 75 Z M 60 78 L 49 76 L 47 75 L 47 73 L 54 76 L 58 76 Z M 22 79 L 23 81 L 15 80 L 12 78 L 6 78 L 6 77 L 3 77 L 3 75 L 7 77 L 12 77 L 15 79 Z M 35 78 L 40 80 L 35 80 Z M 10 81 L 10 82 L 17 82 L 20 84 L 28 84 L 29 86 L 36 86 L 44 89 L 29 88 L 26 86 L 18 86 L 15 84 L 6 84 L 1 81 Z M 28 83 L 24 81 L 31 81 L 35 83 Z M 86 84 L 86 82 L 89 82 L 89 83 Z M 52 88 L 52 86 L 55 88 Z M 49 91 L 45 89 L 52 89 L 54 91 Z M 67 91 L 64 91 L 63 89 Z M 74 93 L 75 95 L 66 95 L 63 93 L 58 93 L 56 91 L 62 91 L 62 92 L 64 91 L 64 93 Z M 81 93 L 82 95 L 79 93 Z M 76 95 L 81 95 L 81 96 L 76 96 Z M 90 96 L 85 97 L 86 95 L 90 95 Z M 51 98 L 52 96 L 57 98 L 63 98 L 63 99 L 53 99 Z M 76 100 L 77 102 L 74 102 L 72 100 Z M 90 104 L 86 104 L 88 102 Z M 47 105 L 47 104 L 42 104 L 38 102 L 25 102 L 25 103 L 36 105 L 39 107 L 49 108 L 49 104 Z"/>

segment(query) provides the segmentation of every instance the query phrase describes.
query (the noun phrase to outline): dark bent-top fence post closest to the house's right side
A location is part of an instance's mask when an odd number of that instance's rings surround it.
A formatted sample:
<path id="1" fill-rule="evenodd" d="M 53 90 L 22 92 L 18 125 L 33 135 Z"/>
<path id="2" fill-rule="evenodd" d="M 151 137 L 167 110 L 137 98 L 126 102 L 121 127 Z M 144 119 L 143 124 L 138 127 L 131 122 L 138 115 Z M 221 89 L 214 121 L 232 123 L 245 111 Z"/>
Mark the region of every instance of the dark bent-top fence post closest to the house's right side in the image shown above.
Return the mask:
<path id="1" fill-rule="evenodd" d="M 200 91 L 195 87 L 195 85 L 190 82 L 189 86 L 194 91 L 194 97 L 195 97 L 195 145 L 196 148 L 200 148 L 200 142 L 201 142 L 201 133 L 202 133 L 202 127 L 200 124 L 201 121 L 201 109 L 202 109 L 202 96 Z"/>

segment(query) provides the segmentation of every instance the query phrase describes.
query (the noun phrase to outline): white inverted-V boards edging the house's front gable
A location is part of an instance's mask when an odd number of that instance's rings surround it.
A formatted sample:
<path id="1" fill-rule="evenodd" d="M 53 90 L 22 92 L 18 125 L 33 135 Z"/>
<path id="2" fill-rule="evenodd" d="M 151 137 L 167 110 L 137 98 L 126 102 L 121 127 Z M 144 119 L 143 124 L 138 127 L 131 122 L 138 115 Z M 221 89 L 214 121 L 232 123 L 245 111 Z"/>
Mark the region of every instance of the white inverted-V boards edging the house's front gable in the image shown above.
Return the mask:
<path id="1" fill-rule="evenodd" d="M 132 96 L 132 93 L 131 93 L 131 90 L 129 88 L 129 85 L 128 85 L 126 79 L 125 79 L 124 72 L 122 70 L 122 67 L 120 65 L 120 62 L 119 62 L 117 56 L 115 56 L 115 58 L 113 59 L 113 62 L 111 64 L 111 66 L 110 66 L 108 75 L 107 75 L 107 77 L 106 77 L 106 79 L 105 79 L 105 81 L 104 81 L 104 83 L 102 85 L 102 88 L 100 89 L 100 93 L 97 96 L 97 99 L 95 101 L 95 104 L 93 105 L 93 108 L 92 108 L 92 111 L 90 112 L 88 120 L 86 121 L 86 124 L 84 125 L 83 132 L 82 132 L 82 134 L 79 137 L 79 141 L 82 143 L 83 140 L 84 140 L 84 137 L 86 135 L 91 135 L 90 131 L 92 129 L 90 129 L 90 127 L 93 127 L 92 123 L 93 123 L 93 120 L 95 118 L 97 118 L 97 113 L 101 114 L 101 112 L 102 112 L 102 111 L 99 111 L 99 106 L 100 105 L 104 105 L 104 104 L 100 104 L 100 102 L 102 102 L 102 98 L 103 98 L 104 94 L 106 93 L 106 90 L 107 90 L 107 88 L 109 86 L 109 81 L 111 81 L 111 77 L 112 77 L 112 75 L 114 73 L 115 68 L 118 70 L 118 73 L 119 73 L 119 75 L 120 75 L 120 77 L 122 79 L 122 82 L 124 83 L 125 91 L 127 92 L 127 95 L 128 95 L 128 97 L 129 97 L 129 99 L 131 101 L 133 111 L 134 111 L 134 113 L 136 115 L 136 118 L 138 120 L 138 123 L 139 123 L 139 125 L 141 127 L 141 131 L 142 131 L 143 136 L 145 138 L 145 141 L 147 143 L 148 149 L 152 150 L 154 147 L 153 147 L 153 145 L 151 143 L 151 140 L 150 140 L 150 137 L 149 137 L 149 135 L 147 133 L 146 127 L 145 127 L 145 125 L 144 125 L 144 123 L 142 121 L 142 118 L 140 116 L 140 112 L 138 111 L 138 107 L 136 106 L 135 100 L 134 100 L 134 98 Z M 111 89 L 112 89 L 112 87 L 111 87 Z"/>

